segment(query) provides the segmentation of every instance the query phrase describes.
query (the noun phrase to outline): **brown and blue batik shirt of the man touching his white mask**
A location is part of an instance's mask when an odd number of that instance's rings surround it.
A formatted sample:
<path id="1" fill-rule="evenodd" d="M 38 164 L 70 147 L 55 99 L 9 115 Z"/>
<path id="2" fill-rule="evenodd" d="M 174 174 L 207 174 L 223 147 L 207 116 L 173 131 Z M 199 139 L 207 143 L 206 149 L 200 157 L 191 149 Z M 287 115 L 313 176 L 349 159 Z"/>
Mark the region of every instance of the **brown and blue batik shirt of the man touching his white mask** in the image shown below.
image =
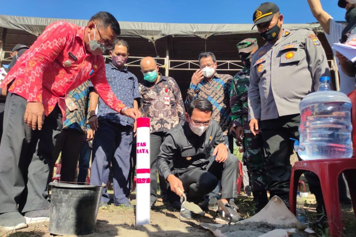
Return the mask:
<path id="1" fill-rule="evenodd" d="M 213 118 L 220 124 L 224 136 L 227 135 L 231 127 L 230 119 L 230 90 L 232 76 L 228 74 L 217 74 L 208 82 L 205 78 L 198 85 L 190 83 L 187 91 L 185 104 L 197 97 L 204 97 L 213 104 Z"/>

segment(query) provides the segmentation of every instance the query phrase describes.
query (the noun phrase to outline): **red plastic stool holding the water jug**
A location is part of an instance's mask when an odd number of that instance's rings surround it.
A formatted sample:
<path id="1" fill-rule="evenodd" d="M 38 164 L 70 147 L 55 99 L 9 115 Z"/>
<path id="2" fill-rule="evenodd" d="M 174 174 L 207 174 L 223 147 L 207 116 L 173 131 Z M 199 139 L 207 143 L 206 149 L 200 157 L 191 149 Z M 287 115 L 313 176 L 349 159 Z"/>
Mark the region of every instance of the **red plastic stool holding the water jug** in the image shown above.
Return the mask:
<path id="1" fill-rule="evenodd" d="M 356 216 L 356 158 L 339 158 L 312 161 L 297 161 L 290 178 L 289 206 L 295 215 L 299 177 L 306 171 L 314 172 L 320 180 L 330 236 L 342 235 L 338 178 L 344 172 L 349 185 L 352 206 Z"/>

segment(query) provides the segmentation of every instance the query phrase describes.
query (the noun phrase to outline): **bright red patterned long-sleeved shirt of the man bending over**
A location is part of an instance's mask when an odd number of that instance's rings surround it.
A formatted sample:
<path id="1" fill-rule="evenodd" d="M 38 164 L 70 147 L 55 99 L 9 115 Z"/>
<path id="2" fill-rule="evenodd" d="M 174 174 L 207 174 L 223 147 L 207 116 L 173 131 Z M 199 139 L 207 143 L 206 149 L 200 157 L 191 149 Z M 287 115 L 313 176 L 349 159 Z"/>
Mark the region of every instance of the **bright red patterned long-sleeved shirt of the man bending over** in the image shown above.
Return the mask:
<path id="1" fill-rule="evenodd" d="M 9 86 L 9 92 L 27 102 L 41 102 L 46 115 L 58 103 L 64 121 L 67 93 L 90 79 L 105 103 L 120 112 L 125 105 L 106 81 L 104 58 L 86 52 L 84 32 L 85 27 L 65 21 L 47 26 L 7 74 L 1 88 L 6 90 Z"/>

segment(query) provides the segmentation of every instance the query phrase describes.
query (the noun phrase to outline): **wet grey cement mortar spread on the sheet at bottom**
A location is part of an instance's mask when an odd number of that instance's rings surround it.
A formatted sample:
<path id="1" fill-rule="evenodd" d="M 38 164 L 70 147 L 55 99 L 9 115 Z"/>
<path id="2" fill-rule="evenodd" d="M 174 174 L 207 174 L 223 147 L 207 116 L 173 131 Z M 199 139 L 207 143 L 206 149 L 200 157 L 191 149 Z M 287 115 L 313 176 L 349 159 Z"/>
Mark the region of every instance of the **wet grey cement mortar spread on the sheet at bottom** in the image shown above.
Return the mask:
<path id="1" fill-rule="evenodd" d="M 269 231 L 276 229 L 288 229 L 286 226 L 272 225 L 267 222 L 248 222 L 244 224 L 235 225 L 224 225 L 220 227 L 219 230 L 227 237 L 236 236 L 248 236 L 248 237 L 258 237 Z M 289 235 L 289 237 L 308 237 L 308 233 L 304 231 L 298 231 L 296 229 L 295 233 Z"/>

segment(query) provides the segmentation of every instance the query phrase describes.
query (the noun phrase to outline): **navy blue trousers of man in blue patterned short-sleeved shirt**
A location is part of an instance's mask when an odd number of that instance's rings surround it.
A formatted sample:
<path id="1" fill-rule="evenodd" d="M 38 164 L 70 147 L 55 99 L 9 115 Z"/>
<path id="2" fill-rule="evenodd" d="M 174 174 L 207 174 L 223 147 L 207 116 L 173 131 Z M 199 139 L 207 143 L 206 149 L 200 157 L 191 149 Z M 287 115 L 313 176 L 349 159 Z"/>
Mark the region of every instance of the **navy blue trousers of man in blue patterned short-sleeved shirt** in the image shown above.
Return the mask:
<path id="1" fill-rule="evenodd" d="M 93 141 L 90 184 L 108 183 L 110 163 L 114 174 L 114 205 L 129 202 L 131 177 L 132 126 L 123 126 L 99 119 Z M 101 201 L 110 201 L 106 188 Z"/>

